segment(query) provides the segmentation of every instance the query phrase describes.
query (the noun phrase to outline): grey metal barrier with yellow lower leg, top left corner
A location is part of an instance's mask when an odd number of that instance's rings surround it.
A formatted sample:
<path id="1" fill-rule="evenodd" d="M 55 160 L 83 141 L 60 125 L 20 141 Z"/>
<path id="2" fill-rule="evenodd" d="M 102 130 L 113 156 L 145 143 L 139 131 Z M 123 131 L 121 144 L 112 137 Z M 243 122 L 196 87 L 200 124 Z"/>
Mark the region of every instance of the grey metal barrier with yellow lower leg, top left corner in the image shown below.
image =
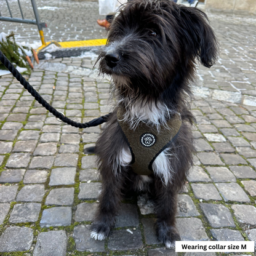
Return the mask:
<path id="1" fill-rule="evenodd" d="M 17 1 L 18 1 L 18 7 L 20 8 L 20 13 L 22 14 L 22 18 L 12 17 L 12 11 L 10 10 L 9 2 L 8 2 L 8 0 L 6 0 L 6 4 L 8 7 L 8 10 L 9 10 L 9 13 L 10 13 L 10 17 L 3 17 L 0 12 L 0 20 L 2 20 L 4 22 L 18 22 L 18 23 L 28 23 L 28 24 L 37 25 L 42 45 L 46 46 L 46 42 L 44 41 L 44 32 L 42 31 L 42 28 L 46 28 L 47 25 L 44 22 L 40 22 L 40 16 L 38 13 L 38 7 L 36 6 L 36 1 L 31 0 L 31 4 L 32 4 L 33 10 L 34 10 L 34 17 L 36 18 L 36 20 L 28 20 L 28 19 L 24 18 L 24 15 L 22 12 L 22 6 L 20 5 L 20 0 L 17 0 Z"/>

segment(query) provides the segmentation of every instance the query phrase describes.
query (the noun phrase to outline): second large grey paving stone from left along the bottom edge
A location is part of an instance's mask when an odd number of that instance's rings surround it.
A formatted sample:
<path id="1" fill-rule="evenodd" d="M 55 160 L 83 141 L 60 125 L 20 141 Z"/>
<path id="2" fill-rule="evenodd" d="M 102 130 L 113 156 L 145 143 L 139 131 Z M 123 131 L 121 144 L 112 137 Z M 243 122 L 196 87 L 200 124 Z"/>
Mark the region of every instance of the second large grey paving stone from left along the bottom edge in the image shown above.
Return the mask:
<path id="1" fill-rule="evenodd" d="M 41 232 L 33 256 L 65 256 L 68 238 L 65 230 Z"/>

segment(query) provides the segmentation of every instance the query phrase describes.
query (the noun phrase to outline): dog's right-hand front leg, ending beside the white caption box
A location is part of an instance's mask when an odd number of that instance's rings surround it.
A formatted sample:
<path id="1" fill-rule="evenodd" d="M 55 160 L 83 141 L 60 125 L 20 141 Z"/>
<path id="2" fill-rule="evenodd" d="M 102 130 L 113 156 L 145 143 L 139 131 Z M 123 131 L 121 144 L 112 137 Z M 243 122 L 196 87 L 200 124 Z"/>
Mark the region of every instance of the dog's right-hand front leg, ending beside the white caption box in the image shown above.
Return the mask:
<path id="1" fill-rule="evenodd" d="M 161 180 L 155 183 L 156 191 L 156 232 L 159 241 L 167 248 L 174 247 L 180 235 L 175 228 L 177 192 L 172 185 L 164 185 Z"/>

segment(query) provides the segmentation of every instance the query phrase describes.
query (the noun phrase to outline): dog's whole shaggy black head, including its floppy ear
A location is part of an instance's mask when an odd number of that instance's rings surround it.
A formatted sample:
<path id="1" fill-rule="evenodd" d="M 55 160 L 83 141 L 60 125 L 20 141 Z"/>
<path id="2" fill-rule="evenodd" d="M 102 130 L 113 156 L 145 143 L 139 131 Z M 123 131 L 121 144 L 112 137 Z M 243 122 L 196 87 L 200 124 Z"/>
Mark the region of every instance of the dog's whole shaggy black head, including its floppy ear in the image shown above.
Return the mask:
<path id="1" fill-rule="evenodd" d="M 195 58 L 210 67 L 216 57 L 214 32 L 199 9 L 170 0 L 133 0 L 111 24 L 98 59 L 100 71 L 116 84 L 158 97 L 175 79 L 193 78 Z"/>

